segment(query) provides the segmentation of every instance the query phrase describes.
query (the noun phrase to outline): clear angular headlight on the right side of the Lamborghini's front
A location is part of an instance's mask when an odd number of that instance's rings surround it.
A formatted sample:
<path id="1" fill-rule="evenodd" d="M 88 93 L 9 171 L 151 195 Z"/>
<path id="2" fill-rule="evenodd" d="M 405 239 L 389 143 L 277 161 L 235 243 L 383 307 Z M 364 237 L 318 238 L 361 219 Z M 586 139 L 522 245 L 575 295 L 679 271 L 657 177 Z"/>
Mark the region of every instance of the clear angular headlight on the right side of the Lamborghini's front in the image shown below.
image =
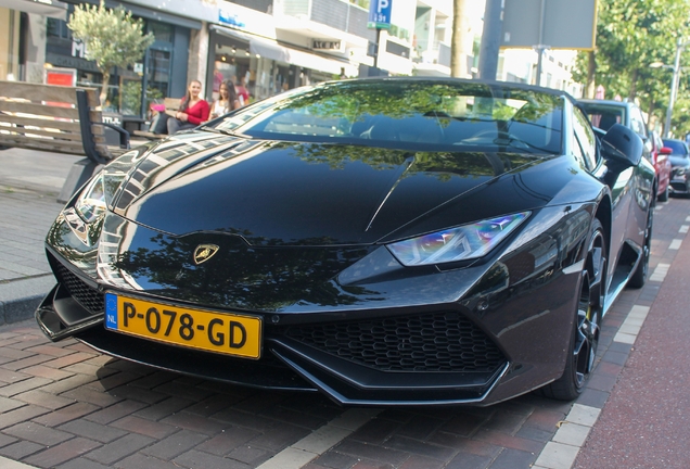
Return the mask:
<path id="1" fill-rule="evenodd" d="M 486 255 L 527 218 L 529 212 L 490 218 L 471 225 L 388 244 L 406 266 L 467 261 Z"/>

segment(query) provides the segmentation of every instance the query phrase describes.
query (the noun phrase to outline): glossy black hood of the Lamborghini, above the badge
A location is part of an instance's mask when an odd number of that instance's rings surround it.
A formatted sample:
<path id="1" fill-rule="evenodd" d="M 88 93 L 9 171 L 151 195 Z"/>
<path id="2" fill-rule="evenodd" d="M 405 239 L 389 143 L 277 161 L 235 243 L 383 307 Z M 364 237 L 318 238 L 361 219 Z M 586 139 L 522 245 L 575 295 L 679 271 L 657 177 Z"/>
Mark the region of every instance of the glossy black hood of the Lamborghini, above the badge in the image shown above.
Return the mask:
<path id="1" fill-rule="evenodd" d="M 371 244 L 542 206 L 563 187 L 546 173 L 555 160 L 199 131 L 144 154 L 113 210 L 173 236 L 230 233 L 252 245 Z"/>

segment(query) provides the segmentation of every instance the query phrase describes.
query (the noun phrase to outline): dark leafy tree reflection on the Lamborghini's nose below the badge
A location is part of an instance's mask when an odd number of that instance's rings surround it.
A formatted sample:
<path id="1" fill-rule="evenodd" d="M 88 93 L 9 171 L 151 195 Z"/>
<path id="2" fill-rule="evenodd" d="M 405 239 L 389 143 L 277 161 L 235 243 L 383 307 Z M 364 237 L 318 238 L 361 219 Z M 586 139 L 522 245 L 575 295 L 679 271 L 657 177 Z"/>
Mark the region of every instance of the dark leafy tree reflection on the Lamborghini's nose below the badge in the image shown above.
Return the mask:
<path id="1" fill-rule="evenodd" d="M 204 238 L 206 241 L 208 238 Z M 214 307 L 280 310 L 295 303 L 337 306 L 356 304 L 375 292 L 338 286 L 333 279 L 363 257 L 367 248 L 250 249 L 239 237 L 225 239 L 218 253 L 194 265 L 197 236 L 156 234 L 133 251 L 120 254 L 113 268 L 123 270 L 150 292 Z"/>

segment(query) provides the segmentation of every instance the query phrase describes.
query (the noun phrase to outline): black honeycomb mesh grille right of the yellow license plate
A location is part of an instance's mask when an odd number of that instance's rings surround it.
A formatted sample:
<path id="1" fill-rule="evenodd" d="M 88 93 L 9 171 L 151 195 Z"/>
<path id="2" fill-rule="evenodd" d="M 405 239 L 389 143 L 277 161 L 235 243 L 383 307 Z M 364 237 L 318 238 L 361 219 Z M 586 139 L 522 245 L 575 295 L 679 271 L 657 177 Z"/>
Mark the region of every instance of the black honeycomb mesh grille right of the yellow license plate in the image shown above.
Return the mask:
<path id="1" fill-rule="evenodd" d="M 291 326 L 285 334 L 384 371 L 493 372 L 506 362 L 482 330 L 453 312 Z"/>

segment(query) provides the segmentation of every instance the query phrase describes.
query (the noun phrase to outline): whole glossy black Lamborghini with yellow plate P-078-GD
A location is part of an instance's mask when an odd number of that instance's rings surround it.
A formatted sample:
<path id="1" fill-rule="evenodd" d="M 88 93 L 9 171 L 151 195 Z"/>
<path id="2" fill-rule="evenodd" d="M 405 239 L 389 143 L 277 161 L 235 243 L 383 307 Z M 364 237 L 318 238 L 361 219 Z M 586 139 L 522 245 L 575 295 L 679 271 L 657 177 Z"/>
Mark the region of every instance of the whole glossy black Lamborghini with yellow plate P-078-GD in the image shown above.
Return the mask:
<path id="1" fill-rule="evenodd" d="M 342 404 L 572 400 L 644 283 L 642 141 L 566 93 L 325 83 L 132 150 L 47 237 L 54 341 Z"/>

